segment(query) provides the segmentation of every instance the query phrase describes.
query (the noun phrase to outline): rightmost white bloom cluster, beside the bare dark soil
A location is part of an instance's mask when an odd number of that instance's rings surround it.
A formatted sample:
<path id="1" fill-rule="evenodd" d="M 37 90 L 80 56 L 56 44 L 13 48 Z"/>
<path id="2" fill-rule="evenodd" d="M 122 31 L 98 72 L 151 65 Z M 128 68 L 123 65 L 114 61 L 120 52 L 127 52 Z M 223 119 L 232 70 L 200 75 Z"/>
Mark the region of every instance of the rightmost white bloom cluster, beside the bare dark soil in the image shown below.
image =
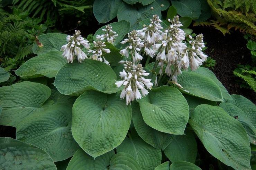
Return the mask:
<path id="1" fill-rule="evenodd" d="M 203 64 L 208 55 L 205 55 L 202 52 L 202 48 L 205 47 L 203 42 L 203 34 L 196 35 L 195 39 L 189 35 L 189 38 L 189 44 L 191 46 L 186 50 L 183 58 L 181 59 L 181 63 L 184 69 L 190 66 L 191 70 L 194 71 L 199 67 L 199 65 Z"/>

